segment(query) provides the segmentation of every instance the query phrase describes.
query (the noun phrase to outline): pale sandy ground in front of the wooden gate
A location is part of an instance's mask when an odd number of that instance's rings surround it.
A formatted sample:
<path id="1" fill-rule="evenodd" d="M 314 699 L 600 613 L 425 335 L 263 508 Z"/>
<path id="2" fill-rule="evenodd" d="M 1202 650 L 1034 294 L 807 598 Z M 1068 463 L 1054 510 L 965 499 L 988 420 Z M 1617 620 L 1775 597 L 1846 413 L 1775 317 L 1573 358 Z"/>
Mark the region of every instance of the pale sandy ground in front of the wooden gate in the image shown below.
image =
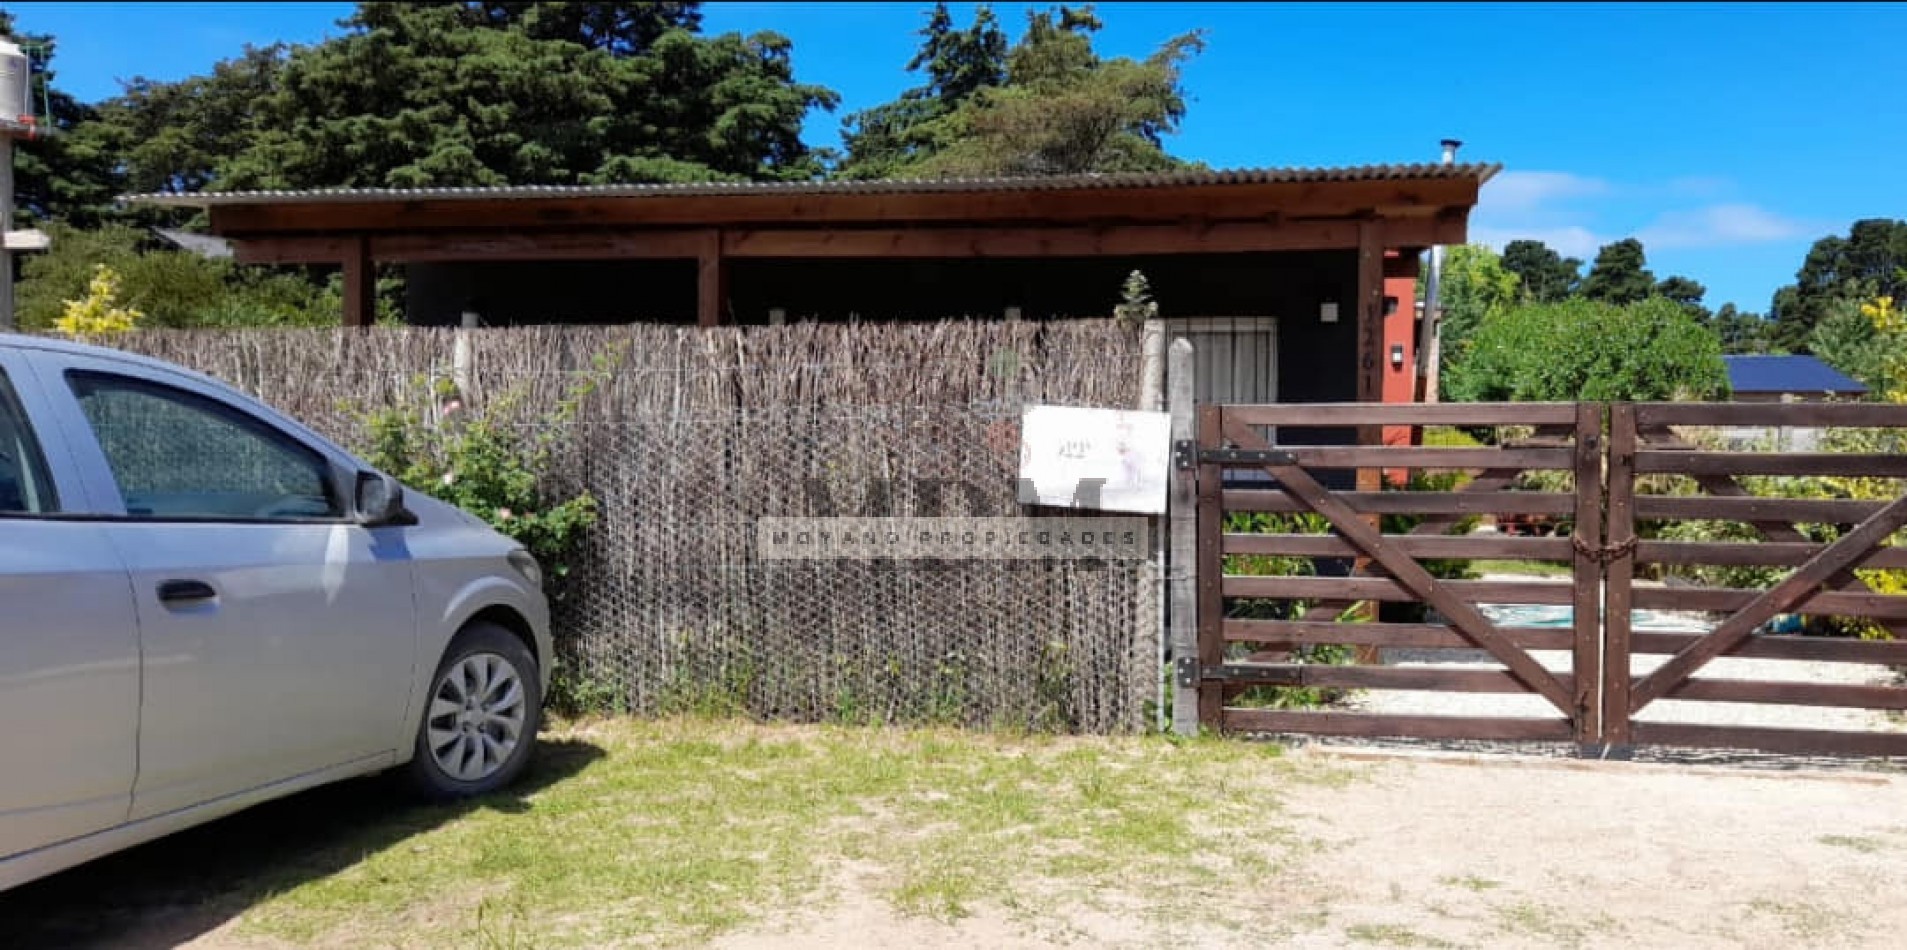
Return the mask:
<path id="1" fill-rule="evenodd" d="M 894 916 L 843 878 L 824 908 L 717 946 L 1899 946 L 1907 782 L 1711 767 L 1308 752 L 1302 860 L 1039 919 Z M 1003 855 L 1003 860 L 1011 857 Z"/>

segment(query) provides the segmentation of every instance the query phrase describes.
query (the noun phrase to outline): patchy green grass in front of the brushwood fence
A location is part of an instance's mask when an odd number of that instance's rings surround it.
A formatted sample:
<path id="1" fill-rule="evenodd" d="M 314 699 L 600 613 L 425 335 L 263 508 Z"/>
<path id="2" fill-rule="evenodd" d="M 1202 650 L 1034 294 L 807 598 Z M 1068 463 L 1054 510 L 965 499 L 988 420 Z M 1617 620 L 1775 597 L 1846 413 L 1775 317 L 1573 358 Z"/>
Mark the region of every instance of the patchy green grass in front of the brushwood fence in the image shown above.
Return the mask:
<path id="1" fill-rule="evenodd" d="M 318 792 L 137 858 L 166 874 L 109 866 L 74 887 L 122 887 L 113 874 L 135 889 L 179 881 L 151 900 L 223 908 L 236 937 L 299 946 L 698 944 L 826 908 L 849 885 L 938 921 L 992 910 L 1062 923 L 1112 898 L 1125 910 L 1137 900 L 1148 919 L 1209 918 L 1222 908 L 1175 895 L 1299 860 L 1280 788 L 1346 780 L 1280 752 L 595 721 L 553 731 L 517 794 L 420 809 L 381 792 Z M 200 834 L 214 837 L 195 845 Z M 195 868 L 198 851 L 227 847 Z"/>

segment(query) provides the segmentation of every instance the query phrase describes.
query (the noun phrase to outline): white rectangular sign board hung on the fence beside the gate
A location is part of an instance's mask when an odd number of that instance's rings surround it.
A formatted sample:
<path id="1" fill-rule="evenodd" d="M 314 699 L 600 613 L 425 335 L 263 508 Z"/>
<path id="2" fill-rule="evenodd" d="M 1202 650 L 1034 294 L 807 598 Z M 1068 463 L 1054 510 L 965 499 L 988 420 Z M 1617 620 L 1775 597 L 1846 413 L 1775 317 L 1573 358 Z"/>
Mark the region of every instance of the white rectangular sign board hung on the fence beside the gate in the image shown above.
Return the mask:
<path id="1" fill-rule="evenodd" d="M 1165 412 L 1026 406 L 1020 504 L 1163 515 L 1171 433 Z"/>

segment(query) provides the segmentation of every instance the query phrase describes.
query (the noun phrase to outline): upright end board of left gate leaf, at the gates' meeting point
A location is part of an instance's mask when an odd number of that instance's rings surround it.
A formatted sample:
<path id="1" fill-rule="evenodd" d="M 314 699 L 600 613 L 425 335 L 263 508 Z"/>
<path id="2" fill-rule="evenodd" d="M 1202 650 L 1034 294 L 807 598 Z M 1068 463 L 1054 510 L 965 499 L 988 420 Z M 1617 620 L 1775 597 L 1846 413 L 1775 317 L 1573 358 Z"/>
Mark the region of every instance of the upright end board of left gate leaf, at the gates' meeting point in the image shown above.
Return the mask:
<path id="1" fill-rule="evenodd" d="M 1575 652 L 1569 660 L 1575 696 L 1575 742 L 1602 742 L 1602 561 L 1583 551 L 1602 547 L 1602 403 L 1575 404 Z"/>

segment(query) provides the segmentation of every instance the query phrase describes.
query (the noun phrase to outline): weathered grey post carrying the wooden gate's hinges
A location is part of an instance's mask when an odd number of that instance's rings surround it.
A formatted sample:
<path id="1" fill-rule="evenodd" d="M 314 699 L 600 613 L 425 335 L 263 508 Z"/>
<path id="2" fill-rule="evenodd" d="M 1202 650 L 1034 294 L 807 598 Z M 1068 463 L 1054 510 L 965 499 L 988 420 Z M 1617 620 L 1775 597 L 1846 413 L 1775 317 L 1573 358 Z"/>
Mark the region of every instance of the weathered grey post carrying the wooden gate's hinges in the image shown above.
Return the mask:
<path id="1" fill-rule="evenodd" d="M 1175 340 L 1165 357 L 1165 408 L 1173 416 L 1173 444 L 1198 443 L 1198 406 L 1192 389 L 1192 341 Z M 1194 450 L 1196 452 L 1196 450 Z M 1196 460 L 1196 458 L 1194 458 Z M 1167 605 L 1171 658 L 1177 666 L 1198 656 L 1200 557 L 1198 557 L 1198 469 L 1173 465 L 1167 504 L 1171 557 L 1167 561 Z M 1173 733 L 1198 734 L 1198 689 L 1175 679 Z"/>

